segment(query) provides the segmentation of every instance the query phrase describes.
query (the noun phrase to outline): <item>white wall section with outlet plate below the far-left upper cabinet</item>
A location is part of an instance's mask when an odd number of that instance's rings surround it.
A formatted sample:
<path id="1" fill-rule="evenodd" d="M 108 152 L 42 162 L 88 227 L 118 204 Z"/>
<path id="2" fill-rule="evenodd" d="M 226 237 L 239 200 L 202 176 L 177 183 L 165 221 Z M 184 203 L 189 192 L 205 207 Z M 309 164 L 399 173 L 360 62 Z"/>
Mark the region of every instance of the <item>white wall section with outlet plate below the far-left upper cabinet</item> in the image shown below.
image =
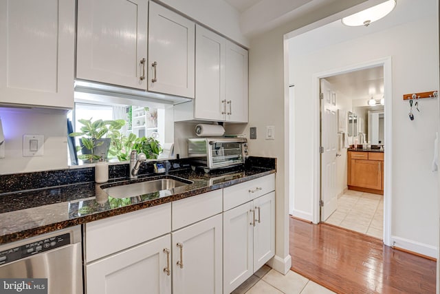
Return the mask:
<path id="1" fill-rule="evenodd" d="M 5 134 L 5 158 L 0 174 L 67 167 L 67 117 L 56 109 L 0 108 Z M 44 135 L 44 156 L 23 157 L 23 134 Z"/>

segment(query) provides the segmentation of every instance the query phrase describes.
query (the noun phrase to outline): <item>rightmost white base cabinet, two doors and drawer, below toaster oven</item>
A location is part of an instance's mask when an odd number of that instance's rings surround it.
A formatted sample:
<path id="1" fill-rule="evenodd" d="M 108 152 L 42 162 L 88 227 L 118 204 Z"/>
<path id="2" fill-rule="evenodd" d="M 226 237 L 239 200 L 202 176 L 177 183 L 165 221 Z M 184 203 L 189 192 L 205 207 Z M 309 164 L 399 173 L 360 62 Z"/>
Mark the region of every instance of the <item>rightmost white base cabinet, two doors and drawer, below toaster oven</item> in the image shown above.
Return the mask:
<path id="1" fill-rule="evenodd" d="M 223 207 L 229 209 L 223 212 L 223 293 L 234 291 L 275 255 L 273 190 L 273 175 L 223 189 Z M 237 199 L 253 196 L 230 209 Z"/>

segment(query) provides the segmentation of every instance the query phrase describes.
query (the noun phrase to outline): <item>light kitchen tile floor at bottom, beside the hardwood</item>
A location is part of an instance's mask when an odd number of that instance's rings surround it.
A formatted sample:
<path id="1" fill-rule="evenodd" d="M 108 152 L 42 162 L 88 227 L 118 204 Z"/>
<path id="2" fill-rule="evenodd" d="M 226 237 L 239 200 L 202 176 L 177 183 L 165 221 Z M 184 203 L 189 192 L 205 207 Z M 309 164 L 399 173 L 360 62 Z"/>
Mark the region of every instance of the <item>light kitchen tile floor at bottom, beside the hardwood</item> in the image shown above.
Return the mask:
<path id="1" fill-rule="evenodd" d="M 289 271 L 282 275 L 264 265 L 232 294 L 331 294 L 334 293 L 307 278 Z"/>

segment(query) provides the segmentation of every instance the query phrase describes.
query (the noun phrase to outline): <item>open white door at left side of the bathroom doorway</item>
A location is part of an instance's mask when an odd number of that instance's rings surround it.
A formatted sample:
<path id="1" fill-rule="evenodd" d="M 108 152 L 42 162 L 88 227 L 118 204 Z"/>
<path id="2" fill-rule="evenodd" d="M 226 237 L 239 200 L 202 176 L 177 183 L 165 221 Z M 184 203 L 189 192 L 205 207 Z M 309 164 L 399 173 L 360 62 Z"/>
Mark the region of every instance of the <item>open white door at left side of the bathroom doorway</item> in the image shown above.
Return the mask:
<path id="1" fill-rule="evenodd" d="M 321 221 L 327 220 L 338 208 L 336 189 L 336 155 L 338 151 L 338 112 L 336 111 L 336 93 L 324 78 L 320 80 L 321 99 Z"/>

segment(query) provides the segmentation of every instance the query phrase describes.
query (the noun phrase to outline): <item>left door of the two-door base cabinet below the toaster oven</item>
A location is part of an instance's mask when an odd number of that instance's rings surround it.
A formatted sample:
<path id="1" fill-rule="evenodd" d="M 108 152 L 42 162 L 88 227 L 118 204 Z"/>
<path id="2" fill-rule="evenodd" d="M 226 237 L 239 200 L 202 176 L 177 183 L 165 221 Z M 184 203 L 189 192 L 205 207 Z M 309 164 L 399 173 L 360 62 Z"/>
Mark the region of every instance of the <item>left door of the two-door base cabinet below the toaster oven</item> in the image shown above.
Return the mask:
<path id="1" fill-rule="evenodd" d="M 223 213 L 223 293 L 231 293 L 254 273 L 252 203 Z"/>

